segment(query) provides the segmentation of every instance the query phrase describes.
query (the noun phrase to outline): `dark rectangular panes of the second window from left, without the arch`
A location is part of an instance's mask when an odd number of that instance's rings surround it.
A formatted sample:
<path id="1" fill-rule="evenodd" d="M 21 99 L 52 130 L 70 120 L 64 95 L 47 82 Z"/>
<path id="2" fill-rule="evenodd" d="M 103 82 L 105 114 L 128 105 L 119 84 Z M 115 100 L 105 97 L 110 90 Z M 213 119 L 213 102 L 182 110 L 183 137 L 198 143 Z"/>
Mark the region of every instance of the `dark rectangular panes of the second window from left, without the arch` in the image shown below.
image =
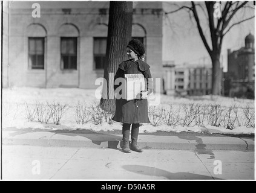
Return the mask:
<path id="1" fill-rule="evenodd" d="M 76 37 L 61 37 L 61 68 L 77 69 Z"/>

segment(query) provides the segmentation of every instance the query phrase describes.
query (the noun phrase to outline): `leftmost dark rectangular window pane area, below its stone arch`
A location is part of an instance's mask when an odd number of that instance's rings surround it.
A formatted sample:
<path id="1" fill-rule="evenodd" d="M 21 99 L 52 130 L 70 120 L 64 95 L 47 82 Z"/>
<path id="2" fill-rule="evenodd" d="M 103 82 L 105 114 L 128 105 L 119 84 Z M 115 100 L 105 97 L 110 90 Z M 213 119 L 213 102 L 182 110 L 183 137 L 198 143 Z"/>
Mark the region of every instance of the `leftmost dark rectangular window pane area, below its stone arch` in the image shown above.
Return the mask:
<path id="1" fill-rule="evenodd" d="M 28 66 L 44 69 L 44 37 L 28 37 Z"/>

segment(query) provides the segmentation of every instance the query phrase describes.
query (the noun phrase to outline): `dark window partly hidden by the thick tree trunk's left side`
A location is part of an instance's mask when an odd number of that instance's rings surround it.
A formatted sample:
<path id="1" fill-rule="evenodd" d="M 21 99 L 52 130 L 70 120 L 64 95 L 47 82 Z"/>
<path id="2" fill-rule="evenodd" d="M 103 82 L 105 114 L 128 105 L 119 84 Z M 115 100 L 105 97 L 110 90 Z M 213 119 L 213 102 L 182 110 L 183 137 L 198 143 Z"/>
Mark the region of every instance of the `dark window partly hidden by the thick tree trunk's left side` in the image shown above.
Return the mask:
<path id="1" fill-rule="evenodd" d="M 107 37 L 94 37 L 94 66 L 96 69 L 104 69 L 107 49 Z"/>

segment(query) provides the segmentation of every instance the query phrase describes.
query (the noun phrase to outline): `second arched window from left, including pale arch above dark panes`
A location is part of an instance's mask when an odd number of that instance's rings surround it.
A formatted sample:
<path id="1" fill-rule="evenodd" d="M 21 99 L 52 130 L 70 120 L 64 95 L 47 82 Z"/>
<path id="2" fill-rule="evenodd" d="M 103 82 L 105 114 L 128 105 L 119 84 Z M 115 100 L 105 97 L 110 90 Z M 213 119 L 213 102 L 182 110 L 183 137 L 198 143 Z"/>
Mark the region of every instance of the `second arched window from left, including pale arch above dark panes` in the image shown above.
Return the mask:
<path id="1" fill-rule="evenodd" d="M 64 24 L 58 30 L 61 36 L 61 69 L 77 69 L 77 37 L 79 30 L 73 24 Z"/>

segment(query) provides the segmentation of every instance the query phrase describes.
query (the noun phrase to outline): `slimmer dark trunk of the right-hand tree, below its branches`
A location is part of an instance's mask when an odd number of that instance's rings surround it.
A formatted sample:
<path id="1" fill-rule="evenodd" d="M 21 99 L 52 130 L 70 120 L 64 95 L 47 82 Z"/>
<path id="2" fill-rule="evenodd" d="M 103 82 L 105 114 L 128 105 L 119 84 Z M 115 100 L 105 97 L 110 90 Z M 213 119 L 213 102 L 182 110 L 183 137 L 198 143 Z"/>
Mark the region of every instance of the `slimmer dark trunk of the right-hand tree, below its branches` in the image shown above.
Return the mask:
<path id="1" fill-rule="evenodd" d="M 211 55 L 212 60 L 212 95 L 221 95 L 222 69 L 220 68 L 220 54 Z"/>

